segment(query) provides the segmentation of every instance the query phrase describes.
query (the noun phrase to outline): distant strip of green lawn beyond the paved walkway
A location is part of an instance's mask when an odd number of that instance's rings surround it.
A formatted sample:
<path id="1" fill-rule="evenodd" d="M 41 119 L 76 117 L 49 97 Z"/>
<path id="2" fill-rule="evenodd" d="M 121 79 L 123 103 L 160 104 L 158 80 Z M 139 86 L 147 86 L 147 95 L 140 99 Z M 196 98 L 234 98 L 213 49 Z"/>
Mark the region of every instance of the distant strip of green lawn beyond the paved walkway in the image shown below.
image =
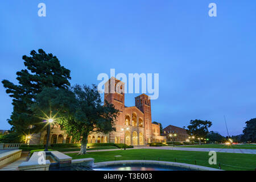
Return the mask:
<path id="1" fill-rule="evenodd" d="M 255 149 L 256 145 L 253 144 L 240 144 L 226 146 L 225 144 L 201 144 L 195 146 L 175 146 L 175 147 L 188 147 L 188 148 L 240 148 L 240 149 Z"/>

